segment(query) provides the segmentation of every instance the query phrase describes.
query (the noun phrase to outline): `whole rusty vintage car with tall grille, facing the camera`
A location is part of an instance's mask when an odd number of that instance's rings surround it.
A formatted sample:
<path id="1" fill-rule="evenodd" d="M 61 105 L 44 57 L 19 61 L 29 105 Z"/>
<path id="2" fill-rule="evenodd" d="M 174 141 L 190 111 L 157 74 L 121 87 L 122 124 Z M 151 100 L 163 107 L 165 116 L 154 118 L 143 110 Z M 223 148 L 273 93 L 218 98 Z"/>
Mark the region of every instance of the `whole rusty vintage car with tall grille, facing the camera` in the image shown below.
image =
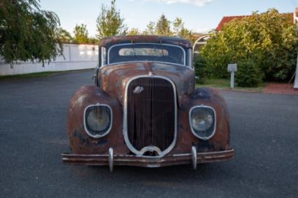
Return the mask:
<path id="1" fill-rule="evenodd" d="M 192 45 L 174 37 L 115 36 L 99 43 L 95 85 L 69 102 L 69 164 L 164 167 L 234 157 L 225 100 L 195 89 Z"/>

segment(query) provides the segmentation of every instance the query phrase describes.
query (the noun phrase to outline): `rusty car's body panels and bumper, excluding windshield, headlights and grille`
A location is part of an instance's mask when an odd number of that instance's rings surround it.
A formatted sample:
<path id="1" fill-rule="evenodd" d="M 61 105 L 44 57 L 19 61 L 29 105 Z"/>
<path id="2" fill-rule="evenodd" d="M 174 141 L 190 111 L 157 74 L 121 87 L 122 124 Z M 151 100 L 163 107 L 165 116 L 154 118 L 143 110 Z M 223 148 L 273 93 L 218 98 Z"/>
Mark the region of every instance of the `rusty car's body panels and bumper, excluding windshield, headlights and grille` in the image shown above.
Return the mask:
<path id="1" fill-rule="evenodd" d="M 190 42 L 180 38 L 159 36 L 117 36 L 105 38 L 99 43 L 106 49 L 119 43 L 167 43 L 191 49 Z M 101 57 L 99 57 L 100 61 Z M 136 76 L 164 76 L 176 85 L 177 123 L 175 146 L 164 156 L 135 155 L 125 142 L 123 116 L 125 89 Z M 99 67 L 95 75 L 96 85 L 85 85 L 73 94 L 67 114 L 67 135 L 71 153 L 62 154 L 68 164 L 130 165 L 163 167 L 176 164 L 217 162 L 234 157 L 229 141 L 229 113 L 222 95 L 214 89 L 195 89 L 194 69 L 162 62 L 125 62 Z M 84 111 L 90 104 L 108 104 L 113 111 L 111 131 L 101 138 L 88 136 L 84 128 Z M 194 136 L 190 128 L 189 112 L 194 106 L 211 106 L 216 112 L 215 134 L 207 140 Z M 192 147 L 197 151 L 192 155 Z M 113 162 L 109 149 L 113 148 Z M 110 155 L 110 158 L 109 158 Z"/>

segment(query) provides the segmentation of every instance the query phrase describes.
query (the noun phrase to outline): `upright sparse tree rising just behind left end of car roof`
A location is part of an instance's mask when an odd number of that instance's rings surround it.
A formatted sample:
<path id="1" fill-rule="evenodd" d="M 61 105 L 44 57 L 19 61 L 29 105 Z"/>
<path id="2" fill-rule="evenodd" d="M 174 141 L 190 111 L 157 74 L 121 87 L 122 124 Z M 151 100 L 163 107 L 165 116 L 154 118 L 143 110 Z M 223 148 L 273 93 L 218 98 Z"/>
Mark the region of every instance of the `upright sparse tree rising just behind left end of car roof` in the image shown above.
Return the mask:
<path id="1" fill-rule="evenodd" d="M 115 0 L 112 0 L 109 8 L 101 5 L 101 12 L 97 17 L 98 39 L 108 36 L 125 35 L 127 32 L 124 18 L 120 16 L 120 11 L 116 9 L 115 2 Z"/>

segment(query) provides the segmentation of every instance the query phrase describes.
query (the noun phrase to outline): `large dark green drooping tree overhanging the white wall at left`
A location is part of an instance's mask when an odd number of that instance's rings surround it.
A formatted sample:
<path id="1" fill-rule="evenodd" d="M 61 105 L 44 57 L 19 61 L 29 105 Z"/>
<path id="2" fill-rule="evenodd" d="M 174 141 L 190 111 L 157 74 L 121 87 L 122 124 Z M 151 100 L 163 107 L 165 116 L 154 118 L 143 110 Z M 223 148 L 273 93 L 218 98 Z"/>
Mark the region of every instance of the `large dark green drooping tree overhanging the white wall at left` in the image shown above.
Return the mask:
<path id="1" fill-rule="evenodd" d="M 10 64 L 17 60 L 44 64 L 62 55 L 59 17 L 41 10 L 37 0 L 1 0 L 0 27 L 0 55 Z"/>

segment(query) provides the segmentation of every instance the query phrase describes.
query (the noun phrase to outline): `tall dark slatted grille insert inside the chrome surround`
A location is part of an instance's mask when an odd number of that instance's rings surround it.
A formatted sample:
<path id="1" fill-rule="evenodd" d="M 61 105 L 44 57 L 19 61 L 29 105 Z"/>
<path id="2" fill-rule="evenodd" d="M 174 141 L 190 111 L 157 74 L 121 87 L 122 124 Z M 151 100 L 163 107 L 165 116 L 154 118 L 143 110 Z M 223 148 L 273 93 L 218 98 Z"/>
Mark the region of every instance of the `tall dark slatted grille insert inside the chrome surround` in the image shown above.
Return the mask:
<path id="1" fill-rule="evenodd" d="M 135 92 L 136 87 L 143 87 Z M 166 150 L 175 135 L 173 86 L 162 78 L 137 78 L 127 89 L 127 133 L 136 150 L 157 146 Z"/>

